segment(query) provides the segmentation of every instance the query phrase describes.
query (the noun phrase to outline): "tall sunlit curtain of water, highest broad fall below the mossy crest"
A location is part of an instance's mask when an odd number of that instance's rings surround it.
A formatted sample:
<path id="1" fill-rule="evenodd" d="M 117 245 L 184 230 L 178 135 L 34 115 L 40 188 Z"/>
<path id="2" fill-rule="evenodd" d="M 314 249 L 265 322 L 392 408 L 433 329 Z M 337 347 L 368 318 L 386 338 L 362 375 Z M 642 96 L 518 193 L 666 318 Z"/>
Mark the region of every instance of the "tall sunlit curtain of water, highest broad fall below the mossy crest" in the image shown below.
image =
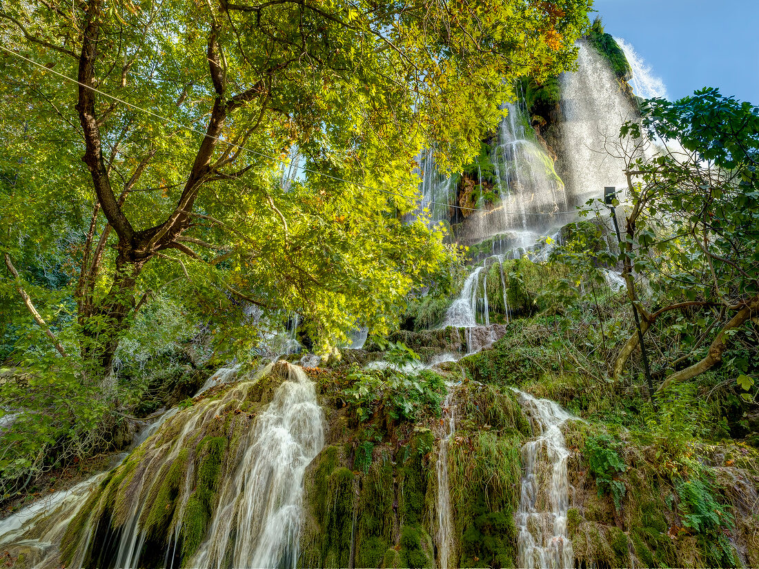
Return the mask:
<path id="1" fill-rule="evenodd" d="M 578 47 L 578 71 L 561 75 L 565 182 L 572 205 L 602 196 L 606 186 L 627 187 L 619 129 L 638 115 L 606 60 L 587 42 Z"/>

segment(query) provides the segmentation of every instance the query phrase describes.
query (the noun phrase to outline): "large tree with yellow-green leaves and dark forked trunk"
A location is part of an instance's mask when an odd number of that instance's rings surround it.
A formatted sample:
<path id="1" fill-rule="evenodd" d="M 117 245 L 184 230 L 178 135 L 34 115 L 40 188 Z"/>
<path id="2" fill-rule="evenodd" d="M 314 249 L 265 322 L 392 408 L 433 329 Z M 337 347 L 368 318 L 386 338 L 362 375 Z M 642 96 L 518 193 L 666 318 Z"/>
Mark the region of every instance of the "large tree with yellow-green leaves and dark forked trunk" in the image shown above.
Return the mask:
<path id="1" fill-rule="evenodd" d="M 386 329 L 414 278 L 445 257 L 439 232 L 398 221 L 414 205 L 411 157 L 434 145 L 455 168 L 474 156 L 515 77 L 572 61 L 588 9 L 589 0 L 4 5 L 4 45 L 51 70 L 5 50 L 8 111 L 33 118 L 33 132 L 17 127 L 8 144 L 49 129 L 65 140 L 55 144 L 62 165 L 36 170 L 24 152 L 43 150 L 27 147 L 6 168 L 55 178 L 46 185 L 90 203 L 72 255 L 83 360 L 107 375 L 151 285 L 182 277 L 206 303 L 304 313 L 323 349 L 357 321 Z M 61 75 L 77 77 L 76 93 Z M 295 149 L 307 172 L 286 190 L 274 180 Z M 6 188 L 16 216 L 17 188 Z M 4 230 L 14 253 L 27 234 Z"/>

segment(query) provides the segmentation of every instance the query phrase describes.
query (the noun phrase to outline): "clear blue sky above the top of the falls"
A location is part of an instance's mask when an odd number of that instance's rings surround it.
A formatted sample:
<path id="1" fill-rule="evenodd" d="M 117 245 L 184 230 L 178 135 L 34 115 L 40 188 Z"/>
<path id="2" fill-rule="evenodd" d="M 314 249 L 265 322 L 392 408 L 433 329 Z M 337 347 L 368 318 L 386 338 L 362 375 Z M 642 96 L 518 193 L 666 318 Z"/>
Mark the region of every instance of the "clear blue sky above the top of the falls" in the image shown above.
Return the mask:
<path id="1" fill-rule="evenodd" d="M 631 43 L 664 81 L 669 99 L 714 86 L 759 104 L 759 0 L 595 0 L 595 9 L 606 33 Z"/>

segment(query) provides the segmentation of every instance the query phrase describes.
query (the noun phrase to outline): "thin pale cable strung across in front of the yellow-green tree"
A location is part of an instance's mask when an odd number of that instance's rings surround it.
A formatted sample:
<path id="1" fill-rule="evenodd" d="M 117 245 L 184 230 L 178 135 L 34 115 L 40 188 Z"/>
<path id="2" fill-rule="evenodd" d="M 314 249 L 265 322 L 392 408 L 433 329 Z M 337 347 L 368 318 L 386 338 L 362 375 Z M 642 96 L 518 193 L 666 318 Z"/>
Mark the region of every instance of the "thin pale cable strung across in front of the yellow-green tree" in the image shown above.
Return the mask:
<path id="1" fill-rule="evenodd" d="M 20 53 L 16 53 L 16 52 L 12 51 L 11 49 L 6 48 L 5 46 L 0 45 L 0 49 L 2 49 L 4 52 L 7 52 L 7 53 L 9 53 L 11 55 L 14 55 L 17 58 L 20 58 L 20 59 L 23 59 L 24 61 L 27 61 L 30 64 L 36 65 L 36 67 L 38 67 L 40 69 L 43 69 L 43 71 L 48 71 L 49 73 L 52 73 L 54 75 L 58 75 L 58 77 L 61 77 L 61 78 L 65 79 L 65 80 L 70 81 L 71 83 L 75 83 L 75 84 L 77 84 L 79 86 L 83 86 L 85 89 L 89 89 L 89 90 L 93 91 L 93 93 L 98 93 L 99 95 L 102 95 L 104 97 L 112 99 L 115 102 L 120 102 L 122 105 L 126 105 L 126 106 L 128 106 L 130 108 L 134 108 L 134 110 L 136 110 L 136 111 L 143 112 L 146 115 L 149 115 L 149 116 L 151 116 L 153 118 L 158 118 L 159 120 L 164 121 L 164 122 L 166 122 L 168 124 L 173 124 L 176 127 L 184 128 L 185 130 L 189 130 L 191 132 L 194 132 L 195 134 L 200 134 L 203 137 L 208 137 L 208 138 L 210 138 L 212 140 L 216 140 L 217 142 L 225 143 L 228 146 L 231 146 L 232 148 L 241 149 L 241 150 L 244 150 L 246 152 L 250 152 L 251 154 L 255 154 L 257 156 L 261 156 L 262 158 L 267 158 L 267 159 L 273 160 L 274 162 L 279 162 L 280 164 L 283 164 L 283 165 L 288 165 L 289 166 L 292 163 L 292 161 L 287 162 L 285 160 L 276 158 L 276 156 L 269 156 L 268 154 L 265 154 L 263 152 L 259 152 L 259 151 L 254 150 L 254 149 L 247 148 L 246 146 L 241 146 L 239 144 L 231 143 L 228 140 L 223 140 L 220 137 L 209 136 L 209 134 L 206 134 L 206 132 L 203 132 L 203 130 L 197 129 L 195 127 L 191 127 L 191 126 L 189 126 L 187 124 L 182 124 L 182 123 L 180 123 L 178 121 L 175 121 L 172 118 L 168 118 L 168 117 L 164 117 L 162 115 L 158 115 L 157 113 L 149 111 L 146 108 L 138 107 L 137 105 L 133 105 L 131 102 L 124 101 L 124 99 L 119 99 L 117 96 L 113 96 L 113 95 L 111 95 L 109 93 L 106 93 L 104 91 L 96 89 L 95 87 L 92 87 L 92 86 L 89 86 L 89 85 L 85 85 L 84 83 L 81 83 L 80 81 L 77 81 L 76 79 L 72 79 L 71 77 L 68 77 L 68 75 L 59 73 L 58 71 L 55 71 L 55 70 L 53 70 L 51 68 L 46 67 L 46 65 L 37 63 L 36 61 L 33 61 L 32 59 L 27 58 L 24 55 L 21 55 Z M 322 171 L 312 170 L 311 168 L 302 167 L 300 169 L 303 170 L 303 171 L 309 172 L 310 174 L 317 174 L 317 176 L 322 176 L 323 178 L 329 178 L 330 180 L 344 182 L 345 184 L 353 184 L 354 186 L 362 187 L 362 188 L 364 188 L 366 190 L 371 190 L 371 191 L 375 191 L 375 192 L 379 192 L 379 193 L 385 193 L 386 195 L 389 195 L 389 196 L 396 196 L 396 197 L 403 198 L 405 200 L 415 200 L 416 199 L 416 198 L 412 198 L 412 197 L 409 197 L 409 196 L 405 196 L 402 193 L 395 193 L 395 192 L 391 192 L 389 190 L 382 190 L 382 189 L 380 189 L 378 187 L 367 186 L 366 184 L 361 184 L 360 182 L 351 182 L 351 181 L 345 180 L 343 178 L 338 178 L 337 176 L 333 176 L 332 174 L 326 174 L 325 172 L 322 172 Z M 422 197 L 420 199 L 420 203 L 427 203 L 427 204 L 436 205 L 436 206 L 455 207 L 456 209 L 465 209 L 465 210 L 471 211 L 471 212 L 489 213 L 489 212 L 492 211 L 492 210 L 488 210 L 488 209 L 478 209 L 478 208 L 474 208 L 474 207 L 452 206 L 450 203 L 442 203 L 442 202 L 436 202 L 436 201 L 432 201 L 432 200 L 424 200 L 424 197 Z M 542 213 L 541 212 L 514 212 L 514 213 L 510 213 L 509 215 L 561 215 L 561 214 L 564 214 L 564 213 L 575 213 L 575 211 L 542 212 Z"/>

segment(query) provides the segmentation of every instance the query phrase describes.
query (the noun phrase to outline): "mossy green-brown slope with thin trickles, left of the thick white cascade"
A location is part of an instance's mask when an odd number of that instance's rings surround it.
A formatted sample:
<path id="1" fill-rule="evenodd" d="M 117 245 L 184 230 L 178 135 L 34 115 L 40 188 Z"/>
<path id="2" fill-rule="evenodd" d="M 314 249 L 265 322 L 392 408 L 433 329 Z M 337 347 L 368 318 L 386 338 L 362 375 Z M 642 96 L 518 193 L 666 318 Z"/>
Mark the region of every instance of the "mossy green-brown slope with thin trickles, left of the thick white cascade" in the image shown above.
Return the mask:
<path id="1" fill-rule="evenodd" d="M 187 566 L 206 538 L 219 484 L 231 476 L 244 439 L 276 387 L 288 376 L 278 363 L 257 376 L 221 385 L 178 410 L 101 483 L 69 523 L 61 563 L 108 567 L 119 538 L 137 527 L 144 536 L 134 558 L 140 567 L 169 561 Z"/>

